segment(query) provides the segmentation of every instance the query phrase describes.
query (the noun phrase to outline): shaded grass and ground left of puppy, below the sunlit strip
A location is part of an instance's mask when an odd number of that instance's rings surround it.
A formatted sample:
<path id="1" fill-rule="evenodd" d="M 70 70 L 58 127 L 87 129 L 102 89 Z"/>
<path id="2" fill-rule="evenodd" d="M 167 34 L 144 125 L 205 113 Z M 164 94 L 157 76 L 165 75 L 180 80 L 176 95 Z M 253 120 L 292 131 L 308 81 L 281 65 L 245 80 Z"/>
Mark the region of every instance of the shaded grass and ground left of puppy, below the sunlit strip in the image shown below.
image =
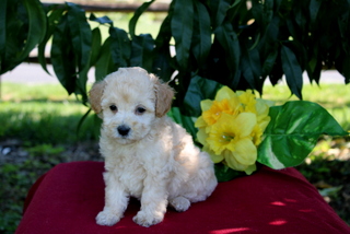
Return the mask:
<path id="1" fill-rule="evenodd" d="M 90 115 L 78 131 L 82 116 L 50 108 L 0 112 L 0 233 L 15 231 L 26 194 L 40 175 L 62 162 L 101 160 L 101 120 Z"/>

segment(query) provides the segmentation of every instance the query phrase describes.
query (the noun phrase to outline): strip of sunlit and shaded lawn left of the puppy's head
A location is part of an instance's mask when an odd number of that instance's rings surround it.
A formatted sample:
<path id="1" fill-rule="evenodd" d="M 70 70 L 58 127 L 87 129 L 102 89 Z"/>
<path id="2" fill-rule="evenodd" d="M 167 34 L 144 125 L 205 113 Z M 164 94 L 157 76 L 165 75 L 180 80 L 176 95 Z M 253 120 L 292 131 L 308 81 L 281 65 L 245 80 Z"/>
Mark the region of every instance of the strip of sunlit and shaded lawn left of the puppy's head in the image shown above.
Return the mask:
<path id="1" fill-rule="evenodd" d="M 89 107 L 68 96 L 59 84 L 2 84 L 0 139 L 35 143 L 74 143 L 96 139 L 95 117 L 78 126 Z M 98 125 L 96 124 L 97 128 Z"/>

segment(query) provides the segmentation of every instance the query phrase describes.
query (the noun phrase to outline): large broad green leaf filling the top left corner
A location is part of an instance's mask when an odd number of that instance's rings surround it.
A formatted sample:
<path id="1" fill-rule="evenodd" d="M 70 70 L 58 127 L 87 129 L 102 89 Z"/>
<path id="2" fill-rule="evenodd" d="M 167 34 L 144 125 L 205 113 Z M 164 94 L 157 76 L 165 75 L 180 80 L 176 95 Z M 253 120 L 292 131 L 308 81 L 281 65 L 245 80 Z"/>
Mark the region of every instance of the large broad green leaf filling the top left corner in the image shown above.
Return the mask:
<path id="1" fill-rule="evenodd" d="M 46 14 L 38 0 L 1 1 L 0 74 L 26 59 L 46 31 Z"/>

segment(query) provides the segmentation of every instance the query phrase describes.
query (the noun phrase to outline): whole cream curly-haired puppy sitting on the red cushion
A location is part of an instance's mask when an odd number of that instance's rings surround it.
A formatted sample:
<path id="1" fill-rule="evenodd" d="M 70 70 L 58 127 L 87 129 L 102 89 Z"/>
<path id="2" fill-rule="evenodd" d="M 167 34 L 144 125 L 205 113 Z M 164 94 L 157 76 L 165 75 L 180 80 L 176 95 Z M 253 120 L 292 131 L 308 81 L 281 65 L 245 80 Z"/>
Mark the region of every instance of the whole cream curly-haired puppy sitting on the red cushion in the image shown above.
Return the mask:
<path id="1" fill-rule="evenodd" d="M 117 223 L 130 196 L 141 201 L 133 221 L 150 226 L 162 222 L 167 203 L 186 211 L 214 190 L 209 155 L 165 115 L 173 96 L 167 84 L 141 68 L 120 68 L 90 91 L 92 108 L 103 119 L 106 188 L 97 224 Z"/>

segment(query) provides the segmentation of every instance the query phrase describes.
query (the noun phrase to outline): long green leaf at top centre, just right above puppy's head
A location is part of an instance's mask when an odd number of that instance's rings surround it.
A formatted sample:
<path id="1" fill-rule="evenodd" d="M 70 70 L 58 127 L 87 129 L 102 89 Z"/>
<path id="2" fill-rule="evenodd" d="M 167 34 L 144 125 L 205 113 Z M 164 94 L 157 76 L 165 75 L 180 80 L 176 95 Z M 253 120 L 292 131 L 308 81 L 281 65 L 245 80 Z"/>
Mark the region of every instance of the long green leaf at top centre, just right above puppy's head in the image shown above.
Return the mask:
<path id="1" fill-rule="evenodd" d="M 171 22 L 179 69 L 188 67 L 194 28 L 194 0 L 176 0 Z"/>

